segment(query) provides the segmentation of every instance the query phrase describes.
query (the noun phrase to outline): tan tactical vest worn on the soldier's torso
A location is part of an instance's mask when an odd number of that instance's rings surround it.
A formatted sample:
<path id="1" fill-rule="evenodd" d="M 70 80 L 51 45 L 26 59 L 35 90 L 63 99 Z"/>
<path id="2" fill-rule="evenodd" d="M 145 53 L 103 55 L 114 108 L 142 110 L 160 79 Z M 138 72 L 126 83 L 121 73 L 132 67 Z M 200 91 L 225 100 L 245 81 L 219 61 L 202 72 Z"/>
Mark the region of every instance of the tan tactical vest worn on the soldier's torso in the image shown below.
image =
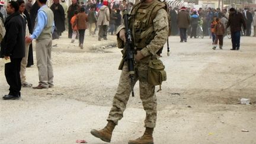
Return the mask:
<path id="1" fill-rule="evenodd" d="M 167 9 L 164 2 L 153 0 L 151 3 L 137 2 L 129 18 L 129 28 L 132 30 L 133 42 L 136 49 L 143 49 L 155 37 L 153 19 L 159 9 Z"/>

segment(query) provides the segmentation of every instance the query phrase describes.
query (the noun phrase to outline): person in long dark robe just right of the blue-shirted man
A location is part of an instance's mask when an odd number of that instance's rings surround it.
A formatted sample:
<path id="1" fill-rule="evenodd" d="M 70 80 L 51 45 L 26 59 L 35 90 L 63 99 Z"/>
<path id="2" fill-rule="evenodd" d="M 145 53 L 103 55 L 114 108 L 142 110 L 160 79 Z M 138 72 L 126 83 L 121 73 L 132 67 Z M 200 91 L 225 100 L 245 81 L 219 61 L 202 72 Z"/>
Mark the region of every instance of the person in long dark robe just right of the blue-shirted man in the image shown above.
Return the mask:
<path id="1" fill-rule="evenodd" d="M 65 31 L 65 11 L 62 5 L 60 5 L 59 0 L 53 0 L 53 4 L 50 9 L 53 11 L 57 34 L 61 36 L 62 32 Z"/>

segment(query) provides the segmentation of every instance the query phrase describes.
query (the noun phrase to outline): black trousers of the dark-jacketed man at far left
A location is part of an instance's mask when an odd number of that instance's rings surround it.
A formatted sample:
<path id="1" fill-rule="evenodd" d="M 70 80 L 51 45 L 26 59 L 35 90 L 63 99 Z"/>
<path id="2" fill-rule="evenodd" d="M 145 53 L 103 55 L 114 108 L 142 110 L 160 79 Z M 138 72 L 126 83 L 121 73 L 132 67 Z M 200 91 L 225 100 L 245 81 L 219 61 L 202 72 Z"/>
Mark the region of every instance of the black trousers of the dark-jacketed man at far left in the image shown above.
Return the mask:
<path id="1" fill-rule="evenodd" d="M 20 68 L 21 59 L 12 59 L 10 63 L 5 64 L 5 78 L 9 84 L 9 94 L 10 95 L 20 95 L 21 90 L 21 78 L 20 78 Z"/>

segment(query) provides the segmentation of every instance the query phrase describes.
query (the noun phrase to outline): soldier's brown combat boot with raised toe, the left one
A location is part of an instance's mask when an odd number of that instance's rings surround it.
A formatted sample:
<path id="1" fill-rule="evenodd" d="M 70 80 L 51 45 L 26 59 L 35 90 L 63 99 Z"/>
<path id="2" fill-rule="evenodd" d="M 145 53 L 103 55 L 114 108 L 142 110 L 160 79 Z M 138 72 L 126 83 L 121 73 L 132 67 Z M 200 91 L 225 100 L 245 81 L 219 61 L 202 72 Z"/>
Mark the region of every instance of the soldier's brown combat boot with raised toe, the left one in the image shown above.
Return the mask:
<path id="1" fill-rule="evenodd" d="M 110 142 L 112 132 L 114 130 L 114 127 L 116 124 L 113 121 L 108 121 L 107 126 L 104 127 L 104 129 L 101 130 L 91 130 L 91 134 L 94 135 L 95 137 L 100 138 L 104 142 Z"/>

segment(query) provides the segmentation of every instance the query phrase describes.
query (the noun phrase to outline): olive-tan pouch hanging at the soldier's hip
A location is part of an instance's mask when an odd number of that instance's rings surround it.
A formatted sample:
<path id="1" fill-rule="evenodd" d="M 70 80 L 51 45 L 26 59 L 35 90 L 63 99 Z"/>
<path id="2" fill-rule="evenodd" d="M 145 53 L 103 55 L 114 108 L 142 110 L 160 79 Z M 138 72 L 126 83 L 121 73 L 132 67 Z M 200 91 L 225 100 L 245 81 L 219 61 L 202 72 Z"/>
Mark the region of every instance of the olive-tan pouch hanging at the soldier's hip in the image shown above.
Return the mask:
<path id="1" fill-rule="evenodd" d="M 165 66 L 160 59 L 149 61 L 148 83 L 151 85 L 161 85 L 167 80 L 167 73 L 164 71 Z"/>

